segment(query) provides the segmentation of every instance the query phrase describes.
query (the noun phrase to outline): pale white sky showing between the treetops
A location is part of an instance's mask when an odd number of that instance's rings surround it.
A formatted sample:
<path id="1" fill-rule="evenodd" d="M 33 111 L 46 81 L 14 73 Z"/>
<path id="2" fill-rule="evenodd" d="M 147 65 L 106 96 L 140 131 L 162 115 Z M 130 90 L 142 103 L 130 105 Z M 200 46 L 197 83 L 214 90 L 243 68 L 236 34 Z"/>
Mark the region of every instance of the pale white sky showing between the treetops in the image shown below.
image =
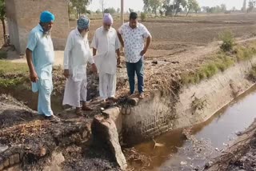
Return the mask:
<path id="1" fill-rule="evenodd" d="M 92 4 L 90 4 L 90 10 L 98 10 L 101 9 L 100 0 L 92 0 Z M 105 0 L 106 8 L 114 7 L 117 9 L 121 6 L 121 0 Z M 217 6 L 222 3 L 226 4 L 227 9 L 230 10 L 234 6 L 236 9 L 240 10 L 242 8 L 243 0 L 198 0 L 200 6 Z M 125 11 L 129 10 L 129 8 L 135 11 L 142 11 L 143 8 L 143 0 L 124 0 Z"/>

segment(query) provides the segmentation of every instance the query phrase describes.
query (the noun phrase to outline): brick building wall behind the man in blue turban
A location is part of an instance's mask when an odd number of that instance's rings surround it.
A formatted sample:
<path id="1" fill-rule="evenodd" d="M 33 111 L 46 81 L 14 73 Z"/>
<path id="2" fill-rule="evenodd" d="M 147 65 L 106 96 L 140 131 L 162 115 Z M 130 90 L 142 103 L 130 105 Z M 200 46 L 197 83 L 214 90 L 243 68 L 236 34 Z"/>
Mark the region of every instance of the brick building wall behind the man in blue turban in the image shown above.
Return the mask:
<path id="1" fill-rule="evenodd" d="M 14 42 L 18 53 L 24 54 L 28 34 L 34 26 L 38 25 L 39 17 L 43 10 L 49 10 L 56 18 L 52 32 L 54 49 L 64 49 L 66 38 L 70 31 L 65 0 L 6 0 L 6 7 L 10 41 Z M 18 30 L 18 36 L 12 30 Z"/>

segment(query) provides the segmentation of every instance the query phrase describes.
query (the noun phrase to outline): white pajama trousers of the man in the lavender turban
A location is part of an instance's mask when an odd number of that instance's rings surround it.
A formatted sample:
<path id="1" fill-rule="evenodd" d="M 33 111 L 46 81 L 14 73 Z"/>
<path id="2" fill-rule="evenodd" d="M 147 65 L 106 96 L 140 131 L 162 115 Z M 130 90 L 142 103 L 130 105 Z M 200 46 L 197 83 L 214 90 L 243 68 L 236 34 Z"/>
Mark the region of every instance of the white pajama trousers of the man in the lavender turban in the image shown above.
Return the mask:
<path id="1" fill-rule="evenodd" d="M 116 82 L 116 74 L 99 73 L 99 95 L 103 100 L 114 97 Z"/>

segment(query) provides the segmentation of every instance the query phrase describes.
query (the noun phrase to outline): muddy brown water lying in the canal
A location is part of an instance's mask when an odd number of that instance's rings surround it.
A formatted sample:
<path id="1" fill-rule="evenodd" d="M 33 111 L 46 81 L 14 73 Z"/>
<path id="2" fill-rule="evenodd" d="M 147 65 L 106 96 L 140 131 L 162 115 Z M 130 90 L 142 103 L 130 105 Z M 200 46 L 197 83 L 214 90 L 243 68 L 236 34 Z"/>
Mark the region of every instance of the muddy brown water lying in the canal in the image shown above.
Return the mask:
<path id="1" fill-rule="evenodd" d="M 150 156 L 150 167 L 146 170 L 193 170 L 222 153 L 234 141 L 239 132 L 246 129 L 256 117 L 256 86 L 235 99 L 230 105 L 216 113 L 209 121 L 195 125 L 188 139 L 182 130 L 166 133 L 154 141 L 135 148 Z M 161 146 L 164 145 L 164 146 Z M 136 169 L 138 165 L 132 164 Z"/>

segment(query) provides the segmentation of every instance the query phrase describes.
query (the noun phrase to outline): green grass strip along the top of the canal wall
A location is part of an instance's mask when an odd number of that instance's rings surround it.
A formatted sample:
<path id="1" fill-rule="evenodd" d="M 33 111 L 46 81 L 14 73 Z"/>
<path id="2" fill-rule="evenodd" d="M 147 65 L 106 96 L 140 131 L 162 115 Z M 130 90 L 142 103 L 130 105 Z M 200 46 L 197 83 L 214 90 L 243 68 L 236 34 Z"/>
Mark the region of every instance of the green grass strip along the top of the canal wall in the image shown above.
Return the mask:
<path id="1" fill-rule="evenodd" d="M 244 45 L 234 46 L 231 52 L 220 50 L 217 54 L 212 55 L 212 60 L 198 67 L 193 73 L 182 74 L 182 83 L 197 84 L 206 78 L 211 78 L 219 71 L 223 72 L 236 62 L 250 60 L 256 54 L 256 42 L 249 42 Z M 251 71 L 250 77 L 256 80 L 255 70 Z"/>

